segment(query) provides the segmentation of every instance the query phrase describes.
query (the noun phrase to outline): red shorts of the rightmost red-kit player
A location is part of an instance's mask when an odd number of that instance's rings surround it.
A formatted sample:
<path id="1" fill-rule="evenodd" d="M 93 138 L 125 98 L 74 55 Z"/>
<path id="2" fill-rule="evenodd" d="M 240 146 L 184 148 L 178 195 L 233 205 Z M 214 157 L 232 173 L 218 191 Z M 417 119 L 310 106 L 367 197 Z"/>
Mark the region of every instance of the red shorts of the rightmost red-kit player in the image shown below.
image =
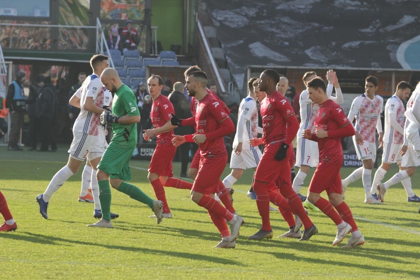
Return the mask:
<path id="1" fill-rule="evenodd" d="M 309 191 L 321 193 L 342 193 L 340 169 L 341 164 L 318 164 L 309 184 Z"/>

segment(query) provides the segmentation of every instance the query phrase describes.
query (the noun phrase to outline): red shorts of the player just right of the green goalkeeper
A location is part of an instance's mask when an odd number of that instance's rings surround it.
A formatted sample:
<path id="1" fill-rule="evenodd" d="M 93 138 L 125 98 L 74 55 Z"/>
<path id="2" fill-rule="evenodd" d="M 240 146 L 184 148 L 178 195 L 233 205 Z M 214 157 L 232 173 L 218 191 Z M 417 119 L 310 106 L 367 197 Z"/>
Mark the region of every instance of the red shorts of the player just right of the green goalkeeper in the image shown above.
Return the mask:
<path id="1" fill-rule="evenodd" d="M 159 174 L 160 176 L 173 177 L 172 160 L 174 159 L 175 153 L 175 146 L 156 146 L 147 171 Z"/>

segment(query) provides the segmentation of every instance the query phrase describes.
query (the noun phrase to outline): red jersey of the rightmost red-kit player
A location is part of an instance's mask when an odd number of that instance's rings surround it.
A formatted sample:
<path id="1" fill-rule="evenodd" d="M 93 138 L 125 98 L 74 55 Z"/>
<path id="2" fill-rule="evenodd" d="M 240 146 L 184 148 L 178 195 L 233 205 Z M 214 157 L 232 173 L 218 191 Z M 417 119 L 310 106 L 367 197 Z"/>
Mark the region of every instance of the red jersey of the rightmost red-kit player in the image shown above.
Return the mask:
<path id="1" fill-rule="evenodd" d="M 351 125 L 343 109 L 337 103 L 328 99 L 319 105 L 315 116 L 315 131 L 318 129 L 325 131 L 339 130 L 346 124 Z M 319 164 L 343 164 L 341 138 L 318 139 L 318 148 Z"/>

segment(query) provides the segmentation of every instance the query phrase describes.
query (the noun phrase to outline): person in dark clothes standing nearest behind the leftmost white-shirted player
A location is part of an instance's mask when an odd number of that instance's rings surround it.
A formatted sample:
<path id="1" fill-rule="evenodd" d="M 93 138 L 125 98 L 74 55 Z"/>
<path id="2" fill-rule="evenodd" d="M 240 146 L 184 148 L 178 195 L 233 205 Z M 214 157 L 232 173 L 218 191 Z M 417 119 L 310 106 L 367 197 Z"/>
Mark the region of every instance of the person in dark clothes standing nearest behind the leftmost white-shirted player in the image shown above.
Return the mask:
<path id="1" fill-rule="evenodd" d="M 36 116 L 39 119 L 41 132 L 41 148 L 39 151 L 48 151 L 53 133 L 53 119 L 56 105 L 55 87 L 51 83 L 51 77 L 47 76 L 43 80 L 44 86 L 36 100 Z"/>

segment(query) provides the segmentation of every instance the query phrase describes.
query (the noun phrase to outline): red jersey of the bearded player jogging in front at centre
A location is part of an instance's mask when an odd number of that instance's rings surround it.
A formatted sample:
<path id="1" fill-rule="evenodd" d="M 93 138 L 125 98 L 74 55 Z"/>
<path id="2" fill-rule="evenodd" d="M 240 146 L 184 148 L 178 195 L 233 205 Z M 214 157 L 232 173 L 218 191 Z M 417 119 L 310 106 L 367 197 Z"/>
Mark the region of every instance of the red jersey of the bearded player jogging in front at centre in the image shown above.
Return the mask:
<path id="1" fill-rule="evenodd" d="M 207 134 L 217 130 L 220 123 L 229 118 L 220 101 L 208 94 L 198 102 L 195 114 L 197 134 Z M 206 140 L 199 144 L 201 155 L 206 158 L 219 158 L 227 155 L 223 137 Z"/>

